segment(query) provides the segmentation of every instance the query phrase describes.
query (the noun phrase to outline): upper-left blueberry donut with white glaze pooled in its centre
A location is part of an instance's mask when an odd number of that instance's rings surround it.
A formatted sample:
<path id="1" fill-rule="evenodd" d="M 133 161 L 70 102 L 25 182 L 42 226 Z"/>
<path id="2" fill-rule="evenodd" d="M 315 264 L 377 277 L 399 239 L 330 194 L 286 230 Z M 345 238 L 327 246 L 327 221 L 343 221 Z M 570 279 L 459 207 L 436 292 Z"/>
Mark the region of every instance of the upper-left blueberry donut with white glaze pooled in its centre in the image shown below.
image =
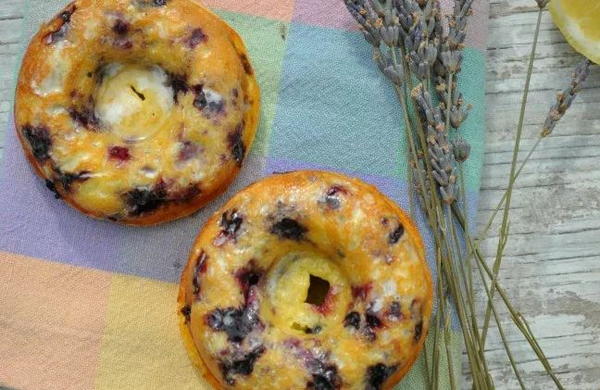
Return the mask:
<path id="1" fill-rule="evenodd" d="M 194 0 L 77 0 L 23 60 L 15 123 L 47 186 L 96 218 L 151 225 L 230 184 L 259 90 L 238 34 Z"/>

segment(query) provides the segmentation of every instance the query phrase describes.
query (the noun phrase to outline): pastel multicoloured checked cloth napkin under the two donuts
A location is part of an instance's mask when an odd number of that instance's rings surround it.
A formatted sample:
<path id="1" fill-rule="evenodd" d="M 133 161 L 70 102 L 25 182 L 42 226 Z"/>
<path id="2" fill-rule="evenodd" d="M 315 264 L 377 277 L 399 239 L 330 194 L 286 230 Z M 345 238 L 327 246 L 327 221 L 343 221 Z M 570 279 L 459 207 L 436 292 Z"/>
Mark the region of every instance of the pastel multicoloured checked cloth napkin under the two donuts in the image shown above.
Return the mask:
<path id="1" fill-rule="evenodd" d="M 27 0 L 26 43 L 66 0 Z M 229 191 L 194 217 L 155 228 L 91 220 L 54 199 L 7 129 L 0 179 L 0 387 L 199 389 L 180 341 L 177 282 L 203 222 L 273 171 L 321 168 L 380 188 L 408 209 L 401 114 L 342 0 L 206 0 L 244 38 L 262 89 L 262 122 Z M 476 1 L 460 87 L 471 218 L 484 152 L 487 2 Z M 421 216 L 431 256 L 431 237 Z M 433 267 L 433 264 L 432 264 Z M 454 324 L 453 366 L 460 371 Z M 430 340 L 431 341 L 431 337 Z M 421 357 L 398 389 L 423 389 Z M 448 372 L 442 370 L 442 388 Z"/>

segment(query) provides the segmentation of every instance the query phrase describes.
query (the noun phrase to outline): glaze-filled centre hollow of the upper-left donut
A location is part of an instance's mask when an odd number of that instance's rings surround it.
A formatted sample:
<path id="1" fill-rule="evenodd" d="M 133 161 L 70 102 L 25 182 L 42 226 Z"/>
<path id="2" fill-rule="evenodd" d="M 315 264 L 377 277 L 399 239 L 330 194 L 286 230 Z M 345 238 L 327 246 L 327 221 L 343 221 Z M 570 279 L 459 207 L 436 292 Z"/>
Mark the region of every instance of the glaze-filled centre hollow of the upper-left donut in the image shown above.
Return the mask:
<path id="1" fill-rule="evenodd" d="M 126 142 L 142 141 L 173 119 L 173 89 L 159 66 L 112 63 L 101 70 L 93 93 L 95 114 Z"/>

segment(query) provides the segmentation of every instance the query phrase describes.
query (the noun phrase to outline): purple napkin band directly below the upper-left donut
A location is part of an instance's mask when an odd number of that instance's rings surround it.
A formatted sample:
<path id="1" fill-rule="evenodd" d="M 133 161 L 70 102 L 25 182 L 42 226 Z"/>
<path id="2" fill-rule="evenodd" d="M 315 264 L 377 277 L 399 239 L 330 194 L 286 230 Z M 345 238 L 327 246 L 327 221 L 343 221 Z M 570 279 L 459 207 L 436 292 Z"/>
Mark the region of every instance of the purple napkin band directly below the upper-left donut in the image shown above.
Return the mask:
<path id="1" fill-rule="evenodd" d="M 202 224 L 257 180 L 264 158 L 250 155 L 234 184 L 196 215 L 136 228 L 96 221 L 54 198 L 27 162 L 10 124 L 0 177 L 0 251 L 176 282 Z"/>

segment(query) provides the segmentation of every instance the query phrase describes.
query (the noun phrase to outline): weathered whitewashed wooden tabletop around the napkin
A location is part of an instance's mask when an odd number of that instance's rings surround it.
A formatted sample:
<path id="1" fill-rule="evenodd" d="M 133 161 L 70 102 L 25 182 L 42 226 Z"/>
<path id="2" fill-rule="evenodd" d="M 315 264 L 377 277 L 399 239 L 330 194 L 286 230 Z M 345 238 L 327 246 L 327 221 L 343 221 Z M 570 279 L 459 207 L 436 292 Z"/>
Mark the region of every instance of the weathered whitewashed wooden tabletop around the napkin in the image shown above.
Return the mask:
<path id="1" fill-rule="evenodd" d="M 0 2 L 0 145 L 12 109 L 23 22 L 20 0 Z M 491 0 L 487 44 L 487 151 L 479 206 L 483 225 L 503 194 L 531 47 L 533 0 Z M 567 85 L 580 56 L 544 15 L 524 129 L 527 151 L 554 94 Z M 1 146 L 0 146 L 1 153 Z M 568 389 L 600 388 L 600 67 L 554 134 L 516 183 L 511 238 L 501 283 L 529 319 Z M 491 258 L 497 234 L 482 243 Z M 483 296 L 480 296 L 483 302 Z M 497 301 L 498 307 L 502 307 Z M 507 337 L 529 389 L 552 382 L 501 310 Z M 497 332 L 487 343 L 497 388 L 516 389 Z M 466 365 L 465 374 L 466 374 Z"/>

